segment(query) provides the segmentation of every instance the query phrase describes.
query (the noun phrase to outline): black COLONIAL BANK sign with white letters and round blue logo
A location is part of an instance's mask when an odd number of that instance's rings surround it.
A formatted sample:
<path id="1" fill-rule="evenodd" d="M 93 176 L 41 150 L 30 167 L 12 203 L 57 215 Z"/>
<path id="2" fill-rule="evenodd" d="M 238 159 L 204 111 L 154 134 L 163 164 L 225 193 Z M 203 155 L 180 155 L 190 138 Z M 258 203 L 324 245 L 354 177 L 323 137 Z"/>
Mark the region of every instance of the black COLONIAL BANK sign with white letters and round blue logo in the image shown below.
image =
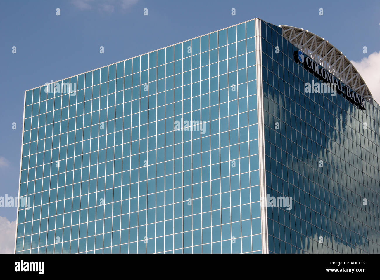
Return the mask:
<path id="1" fill-rule="evenodd" d="M 342 83 L 342 81 L 333 76 L 325 68 L 318 65 L 317 62 L 312 60 L 309 56 L 305 56 L 302 51 L 295 51 L 294 59 L 298 63 L 303 64 L 306 70 L 313 73 L 320 80 L 328 84 L 335 84 L 336 91 L 340 95 L 343 95 L 346 99 L 350 100 L 351 103 L 355 104 L 361 110 L 366 110 L 366 100 L 361 95 L 354 92 L 352 89 L 350 89 L 350 87 Z"/>

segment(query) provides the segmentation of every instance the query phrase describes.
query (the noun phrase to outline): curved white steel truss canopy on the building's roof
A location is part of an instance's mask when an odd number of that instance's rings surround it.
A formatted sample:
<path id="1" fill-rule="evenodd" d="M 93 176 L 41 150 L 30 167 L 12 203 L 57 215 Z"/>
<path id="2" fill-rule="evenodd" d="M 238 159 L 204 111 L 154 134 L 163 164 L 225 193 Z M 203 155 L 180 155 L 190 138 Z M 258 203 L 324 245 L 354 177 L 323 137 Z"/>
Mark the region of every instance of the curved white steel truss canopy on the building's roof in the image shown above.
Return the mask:
<path id="1" fill-rule="evenodd" d="M 353 91 L 367 100 L 372 97 L 358 70 L 356 70 L 354 65 L 341 51 L 327 40 L 297 27 L 287 25 L 280 25 L 279 27 L 282 28 L 282 36 L 285 39 L 301 49 L 301 51 L 318 62 L 322 67 L 325 67 L 332 75 L 339 78 Z"/>

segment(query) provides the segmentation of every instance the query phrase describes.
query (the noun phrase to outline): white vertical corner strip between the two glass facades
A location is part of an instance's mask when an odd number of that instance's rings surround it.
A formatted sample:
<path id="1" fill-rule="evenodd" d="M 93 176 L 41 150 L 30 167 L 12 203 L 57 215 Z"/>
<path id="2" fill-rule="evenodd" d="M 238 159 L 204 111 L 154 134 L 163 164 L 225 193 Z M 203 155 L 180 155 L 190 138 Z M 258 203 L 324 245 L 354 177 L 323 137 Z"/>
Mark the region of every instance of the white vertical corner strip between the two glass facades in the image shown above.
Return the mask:
<path id="1" fill-rule="evenodd" d="M 265 178 L 265 147 L 264 147 L 264 105 L 263 105 L 263 68 L 261 63 L 261 19 L 255 20 L 256 36 L 256 78 L 257 78 L 257 115 L 258 115 L 258 148 L 259 148 L 259 174 L 260 197 L 266 201 Z M 263 204 L 263 201 L 260 202 Z M 268 215 L 266 205 L 261 205 L 261 246 L 263 253 L 268 251 Z"/>

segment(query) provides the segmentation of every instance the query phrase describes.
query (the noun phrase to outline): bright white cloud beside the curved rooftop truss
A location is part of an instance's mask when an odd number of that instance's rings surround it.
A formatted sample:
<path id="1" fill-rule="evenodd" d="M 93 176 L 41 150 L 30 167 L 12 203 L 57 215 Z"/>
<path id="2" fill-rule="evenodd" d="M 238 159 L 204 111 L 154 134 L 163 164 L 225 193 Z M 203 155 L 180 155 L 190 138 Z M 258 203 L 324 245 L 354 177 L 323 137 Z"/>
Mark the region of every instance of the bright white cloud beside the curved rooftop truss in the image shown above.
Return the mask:
<path id="1" fill-rule="evenodd" d="M 360 61 L 351 61 L 367 84 L 375 101 L 380 103 L 380 51 L 364 57 Z"/>

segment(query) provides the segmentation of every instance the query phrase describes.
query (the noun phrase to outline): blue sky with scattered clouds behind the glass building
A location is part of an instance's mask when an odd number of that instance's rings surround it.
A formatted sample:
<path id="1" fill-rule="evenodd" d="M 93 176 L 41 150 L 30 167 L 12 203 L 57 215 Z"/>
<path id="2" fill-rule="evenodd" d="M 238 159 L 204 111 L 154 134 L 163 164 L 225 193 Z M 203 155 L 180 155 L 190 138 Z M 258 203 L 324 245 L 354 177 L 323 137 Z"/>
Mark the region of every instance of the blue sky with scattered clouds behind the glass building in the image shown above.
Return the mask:
<path id="1" fill-rule="evenodd" d="M 0 198 L 18 195 L 26 90 L 253 18 L 325 38 L 380 102 L 378 0 L 0 2 Z M 16 207 L 0 207 L 0 253 L 13 252 L 16 214 Z"/>

